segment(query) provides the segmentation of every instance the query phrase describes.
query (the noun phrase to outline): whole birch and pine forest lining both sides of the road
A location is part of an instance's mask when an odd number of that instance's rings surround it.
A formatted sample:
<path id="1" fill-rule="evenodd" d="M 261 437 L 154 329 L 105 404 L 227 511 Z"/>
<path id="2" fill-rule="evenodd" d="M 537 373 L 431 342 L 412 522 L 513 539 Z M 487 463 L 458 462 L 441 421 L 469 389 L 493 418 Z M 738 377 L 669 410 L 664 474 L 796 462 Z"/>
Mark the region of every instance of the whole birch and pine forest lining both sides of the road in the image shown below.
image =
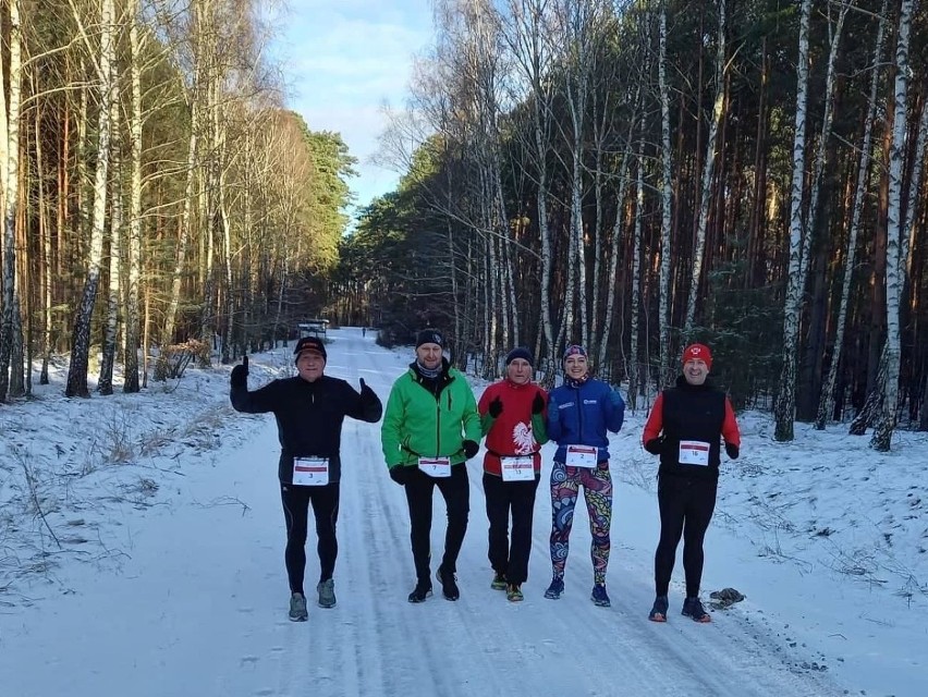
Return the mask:
<path id="1" fill-rule="evenodd" d="M 245 0 L 3 0 L 0 401 L 234 360 L 295 322 L 563 347 L 646 405 L 689 341 L 738 408 L 928 429 L 916 0 L 437 0 L 380 159 L 288 109 Z M 309 49 L 312 50 L 312 49 Z"/>

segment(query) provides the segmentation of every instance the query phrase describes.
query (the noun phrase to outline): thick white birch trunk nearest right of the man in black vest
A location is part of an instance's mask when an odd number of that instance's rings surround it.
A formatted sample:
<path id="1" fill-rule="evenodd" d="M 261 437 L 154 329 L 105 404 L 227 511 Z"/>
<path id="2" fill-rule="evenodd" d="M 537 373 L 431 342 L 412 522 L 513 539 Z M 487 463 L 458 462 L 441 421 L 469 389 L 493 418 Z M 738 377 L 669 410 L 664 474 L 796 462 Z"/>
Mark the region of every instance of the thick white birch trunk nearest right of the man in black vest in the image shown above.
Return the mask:
<path id="1" fill-rule="evenodd" d="M 796 413 L 796 354 L 799 334 L 799 309 L 804 279 L 802 268 L 803 179 L 806 169 L 806 105 L 809 76 L 809 14 L 811 0 L 803 0 L 799 15 L 799 51 L 796 59 L 796 121 L 793 136 L 793 185 L 790 201 L 790 267 L 786 278 L 786 298 L 783 315 L 783 368 L 780 391 L 773 415 L 777 421 L 773 438 L 793 440 L 793 421 Z"/>

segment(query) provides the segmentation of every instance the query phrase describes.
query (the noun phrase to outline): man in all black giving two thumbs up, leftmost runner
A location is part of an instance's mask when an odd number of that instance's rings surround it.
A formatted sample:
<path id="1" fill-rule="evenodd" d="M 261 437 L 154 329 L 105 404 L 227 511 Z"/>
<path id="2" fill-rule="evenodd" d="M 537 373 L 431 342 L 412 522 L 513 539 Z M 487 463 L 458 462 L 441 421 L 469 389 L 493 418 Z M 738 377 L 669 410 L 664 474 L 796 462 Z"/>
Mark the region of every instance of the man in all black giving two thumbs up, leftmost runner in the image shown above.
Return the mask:
<path id="1" fill-rule="evenodd" d="M 361 380 L 361 394 L 344 380 L 323 375 L 326 344 L 304 337 L 293 350 L 298 375 L 273 380 L 248 391 L 248 357 L 232 369 L 230 398 L 236 412 L 272 412 L 280 439 L 280 498 L 286 522 L 286 575 L 290 580 L 290 619 L 305 621 L 306 534 L 309 503 L 316 518 L 319 553 L 319 607 L 335 606 L 334 582 L 339 546 L 335 523 L 339 517 L 342 423 L 345 416 L 371 424 L 380 420 L 380 399 Z"/>

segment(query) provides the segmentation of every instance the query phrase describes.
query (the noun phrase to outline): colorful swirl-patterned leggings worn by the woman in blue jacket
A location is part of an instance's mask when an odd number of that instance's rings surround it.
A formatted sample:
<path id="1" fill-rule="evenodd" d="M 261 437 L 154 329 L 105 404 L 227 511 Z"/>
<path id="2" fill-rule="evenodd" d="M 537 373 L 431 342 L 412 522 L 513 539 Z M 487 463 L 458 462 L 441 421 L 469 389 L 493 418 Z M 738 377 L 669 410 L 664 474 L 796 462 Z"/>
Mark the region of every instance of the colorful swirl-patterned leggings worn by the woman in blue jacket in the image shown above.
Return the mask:
<path id="1" fill-rule="evenodd" d="M 551 469 L 551 565 L 555 577 L 563 577 L 570 553 L 571 527 L 579 488 L 584 488 L 586 510 L 589 514 L 589 533 L 593 536 L 594 583 L 606 583 L 609 565 L 609 525 L 612 521 L 612 477 L 609 463 L 601 462 L 595 469 L 566 467 L 555 462 Z"/>

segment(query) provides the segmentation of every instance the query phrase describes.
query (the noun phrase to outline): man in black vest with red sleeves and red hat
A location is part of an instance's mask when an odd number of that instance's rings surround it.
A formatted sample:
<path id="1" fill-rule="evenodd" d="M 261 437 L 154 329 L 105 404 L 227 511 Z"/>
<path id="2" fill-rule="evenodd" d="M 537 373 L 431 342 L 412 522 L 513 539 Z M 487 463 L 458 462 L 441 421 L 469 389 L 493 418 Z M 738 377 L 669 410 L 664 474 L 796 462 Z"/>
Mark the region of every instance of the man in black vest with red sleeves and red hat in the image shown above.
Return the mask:
<path id="1" fill-rule="evenodd" d="M 707 381 L 711 367 L 708 346 L 687 346 L 683 352 L 683 375 L 676 379 L 676 387 L 658 395 L 642 436 L 645 450 L 660 455 L 660 541 L 655 553 L 657 598 L 648 614 L 654 622 L 667 622 L 667 595 L 681 536 L 686 576 L 683 614 L 696 622 L 711 622 L 699 600 L 703 540 L 716 508 L 720 440 L 724 438 L 725 453 L 732 460 L 738 456 L 741 448 L 731 402 Z"/>

